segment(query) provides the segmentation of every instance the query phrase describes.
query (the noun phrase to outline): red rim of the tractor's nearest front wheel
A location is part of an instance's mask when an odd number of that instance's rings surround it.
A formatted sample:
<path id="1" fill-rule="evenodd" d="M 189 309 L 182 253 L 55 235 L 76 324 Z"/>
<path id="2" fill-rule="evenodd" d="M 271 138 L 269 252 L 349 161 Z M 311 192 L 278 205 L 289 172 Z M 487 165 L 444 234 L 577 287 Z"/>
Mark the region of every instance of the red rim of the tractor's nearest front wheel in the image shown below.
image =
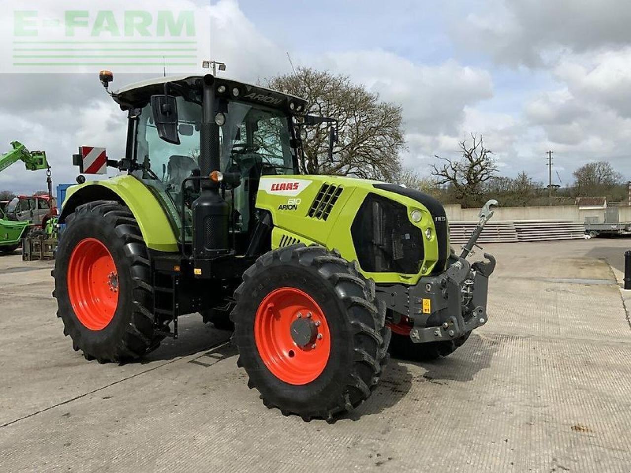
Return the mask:
<path id="1" fill-rule="evenodd" d="M 298 328 L 309 341 L 296 341 Z M 293 329 L 293 334 L 292 334 Z M 280 288 L 269 293 L 254 318 L 254 341 L 265 366 L 289 384 L 304 385 L 322 374 L 331 352 L 331 332 L 324 312 L 307 293 Z"/>

